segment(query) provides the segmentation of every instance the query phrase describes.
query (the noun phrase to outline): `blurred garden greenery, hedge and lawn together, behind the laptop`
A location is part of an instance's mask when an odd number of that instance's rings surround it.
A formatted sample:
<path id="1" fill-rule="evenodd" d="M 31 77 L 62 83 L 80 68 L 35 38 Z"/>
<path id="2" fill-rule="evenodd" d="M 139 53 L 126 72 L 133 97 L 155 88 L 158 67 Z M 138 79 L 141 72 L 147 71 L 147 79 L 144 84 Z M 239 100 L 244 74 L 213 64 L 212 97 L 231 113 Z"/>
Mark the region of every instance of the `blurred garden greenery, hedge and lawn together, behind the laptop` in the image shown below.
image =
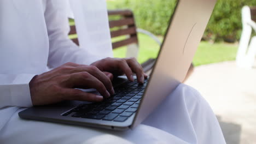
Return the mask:
<path id="1" fill-rule="evenodd" d="M 138 28 L 146 29 L 162 40 L 176 1 L 173 0 L 107 0 L 108 9 L 131 9 Z M 234 61 L 242 31 L 243 5 L 256 5 L 254 0 L 219 0 L 214 8 L 193 64 Z M 139 34 L 138 61 L 156 57 L 159 46 L 146 35 Z M 125 49 L 114 50 L 115 57 L 125 57 Z"/>

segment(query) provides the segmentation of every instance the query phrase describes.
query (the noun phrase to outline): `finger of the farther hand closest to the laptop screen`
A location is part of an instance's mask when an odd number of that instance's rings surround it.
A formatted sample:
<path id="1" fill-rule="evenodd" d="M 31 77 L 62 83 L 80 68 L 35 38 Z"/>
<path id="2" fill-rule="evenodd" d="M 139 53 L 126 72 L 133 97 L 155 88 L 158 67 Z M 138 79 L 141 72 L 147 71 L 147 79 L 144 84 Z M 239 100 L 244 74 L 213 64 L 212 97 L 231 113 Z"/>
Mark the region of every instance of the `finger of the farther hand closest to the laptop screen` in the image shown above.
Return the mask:
<path id="1" fill-rule="evenodd" d="M 129 58 L 126 60 L 132 71 L 136 74 L 139 83 L 144 83 L 144 72 L 141 65 L 136 61 L 135 58 Z"/>

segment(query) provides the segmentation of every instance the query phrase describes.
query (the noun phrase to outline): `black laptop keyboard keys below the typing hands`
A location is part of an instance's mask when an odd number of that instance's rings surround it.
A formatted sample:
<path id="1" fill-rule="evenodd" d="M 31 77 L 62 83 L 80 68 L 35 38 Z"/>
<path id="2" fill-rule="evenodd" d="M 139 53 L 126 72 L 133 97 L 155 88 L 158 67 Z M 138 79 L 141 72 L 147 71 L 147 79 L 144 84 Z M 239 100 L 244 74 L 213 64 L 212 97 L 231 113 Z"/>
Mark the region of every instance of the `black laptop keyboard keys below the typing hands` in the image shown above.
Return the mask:
<path id="1" fill-rule="evenodd" d="M 115 94 L 101 103 L 80 104 L 62 116 L 72 113 L 72 117 L 124 122 L 137 111 L 147 83 L 147 79 L 144 84 L 137 80 L 125 82 L 114 88 Z"/>

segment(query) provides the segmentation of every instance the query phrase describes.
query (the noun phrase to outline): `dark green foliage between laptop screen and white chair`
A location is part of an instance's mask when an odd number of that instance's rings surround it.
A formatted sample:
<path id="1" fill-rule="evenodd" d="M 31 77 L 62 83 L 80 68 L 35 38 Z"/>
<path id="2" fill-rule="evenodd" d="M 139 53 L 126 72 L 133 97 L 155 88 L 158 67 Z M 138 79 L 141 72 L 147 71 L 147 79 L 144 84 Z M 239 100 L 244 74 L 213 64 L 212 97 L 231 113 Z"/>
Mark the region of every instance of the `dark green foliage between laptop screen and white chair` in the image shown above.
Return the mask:
<path id="1" fill-rule="evenodd" d="M 256 5 L 256 0 L 218 0 L 203 38 L 235 41 L 242 31 L 241 9 Z"/>

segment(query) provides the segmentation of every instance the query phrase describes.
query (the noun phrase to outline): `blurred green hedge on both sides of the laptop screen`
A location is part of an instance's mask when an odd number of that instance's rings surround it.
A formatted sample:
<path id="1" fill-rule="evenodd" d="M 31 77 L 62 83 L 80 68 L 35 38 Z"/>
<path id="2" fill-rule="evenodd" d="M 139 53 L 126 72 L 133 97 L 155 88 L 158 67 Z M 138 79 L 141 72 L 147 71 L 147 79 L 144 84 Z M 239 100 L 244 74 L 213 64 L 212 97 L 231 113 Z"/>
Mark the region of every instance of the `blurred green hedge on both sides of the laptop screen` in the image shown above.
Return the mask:
<path id="1" fill-rule="evenodd" d="M 108 9 L 132 9 L 138 27 L 156 35 L 164 35 L 174 0 L 111 0 Z M 255 5 L 256 0 L 218 0 L 203 39 L 235 41 L 240 38 L 241 8 Z"/>

